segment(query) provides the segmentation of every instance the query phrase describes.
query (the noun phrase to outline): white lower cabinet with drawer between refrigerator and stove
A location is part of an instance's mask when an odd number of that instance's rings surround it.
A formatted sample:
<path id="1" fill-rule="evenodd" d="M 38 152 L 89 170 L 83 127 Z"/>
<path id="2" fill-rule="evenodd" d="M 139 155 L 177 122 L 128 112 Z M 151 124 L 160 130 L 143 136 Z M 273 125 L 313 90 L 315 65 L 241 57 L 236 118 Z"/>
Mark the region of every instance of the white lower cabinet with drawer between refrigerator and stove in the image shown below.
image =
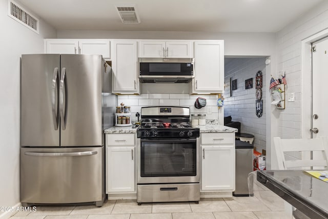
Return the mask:
<path id="1" fill-rule="evenodd" d="M 106 135 L 106 193 L 108 194 L 136 192 L 136 147 L 135 141 L 131 142 L 131 139 L 135 139 L 135 134 Z"/>

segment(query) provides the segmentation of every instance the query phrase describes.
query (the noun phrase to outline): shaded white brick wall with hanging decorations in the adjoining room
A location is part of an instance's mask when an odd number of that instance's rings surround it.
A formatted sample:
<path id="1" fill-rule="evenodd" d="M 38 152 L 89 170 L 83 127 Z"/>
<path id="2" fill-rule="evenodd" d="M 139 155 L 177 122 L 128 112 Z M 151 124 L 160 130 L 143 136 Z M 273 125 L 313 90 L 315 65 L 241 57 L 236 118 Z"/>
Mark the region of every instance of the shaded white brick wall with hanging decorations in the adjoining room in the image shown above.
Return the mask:
<path id="1" fill-rule="evenodd" d="M 229 85 L 230 77 L 237 79 L 237 90 L 233 90 L 230 96 L 230 87 L 224 90 L 224 116 L 231 115 L 233 121 L 241 123 L 242 133 L 254 135 L 254 146 L 258 151 L 265 147 L 265 114 L 263 109 L 262 117 L 255 114 L 255 75 L 261 70 L 262 79 L 262 99 L 265 106 L 265 95 L 268 86 L 265 82 L 265 58 L 231 58 L 224 66 L 224 84 Z M 253 78 L 253 88 L 245 89 L 245 79 Z"/>

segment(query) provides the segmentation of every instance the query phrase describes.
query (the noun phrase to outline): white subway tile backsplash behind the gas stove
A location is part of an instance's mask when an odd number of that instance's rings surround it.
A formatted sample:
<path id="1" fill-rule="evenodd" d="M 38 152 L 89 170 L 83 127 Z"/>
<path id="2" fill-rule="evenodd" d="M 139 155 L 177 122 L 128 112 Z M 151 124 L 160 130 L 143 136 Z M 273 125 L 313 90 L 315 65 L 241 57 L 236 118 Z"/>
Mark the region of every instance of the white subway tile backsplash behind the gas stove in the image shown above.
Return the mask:
<path id="1" fill-rule="evenodd" d="M 178 85 L 176 85 L 178 86 Z M 194 107 L 197 97 L 206 98 L 206 106 L 201 109 L 196 109 Z M 135 113 L 141 111 L 141 107 L 148 106 L 183 106 L 190 107 L 191 113 L 206 113 L 207 120 L 217 120 L 219 118 L 219 113 L 216 106 L 217 95 L 189 95 L 181 93 L 173 94 L 161 94 L 161 93 L 143 93 L 141 95 L 119 95 L 117 103 L 124 103 L 126 106 L 131 106 L 131 117 L 135 120 Z M 208 108 L 211 108 L 211 114 L 207 113 Z M 223 122 L 222 122 L 223 125 Z"/>

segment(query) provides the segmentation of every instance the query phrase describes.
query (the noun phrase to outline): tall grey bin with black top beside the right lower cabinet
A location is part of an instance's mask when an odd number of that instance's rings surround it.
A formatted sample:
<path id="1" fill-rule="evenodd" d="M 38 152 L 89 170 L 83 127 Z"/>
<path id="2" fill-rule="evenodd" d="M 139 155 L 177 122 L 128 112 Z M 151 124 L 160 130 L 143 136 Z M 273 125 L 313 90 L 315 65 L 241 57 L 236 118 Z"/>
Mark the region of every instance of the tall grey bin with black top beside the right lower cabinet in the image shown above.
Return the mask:
<path id="1" fill-rule="evenodd" d="M 234 196 L 253 196 L 253 194 L 249 194 L 248 187 L 248 174 L 253 171 L 253 150 L 253 145 L 236 140 L 236 189 L 233 192 Z"/>

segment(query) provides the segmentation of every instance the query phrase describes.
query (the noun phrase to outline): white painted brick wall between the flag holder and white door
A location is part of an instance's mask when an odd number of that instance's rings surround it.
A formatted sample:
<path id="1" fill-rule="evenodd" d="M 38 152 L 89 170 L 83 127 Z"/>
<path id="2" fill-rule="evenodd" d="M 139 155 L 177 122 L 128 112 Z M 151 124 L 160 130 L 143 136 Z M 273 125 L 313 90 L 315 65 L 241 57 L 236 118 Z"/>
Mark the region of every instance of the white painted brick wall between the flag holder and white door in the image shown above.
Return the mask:
<path id="1" fill-rule="evenodd" d="M 276 35 L 277 69 L 286 71 L 286 95 L 295 93 L 295 102 L 285 102 L 285 109 L 279 110 L 278 127 L 272 127 L 282 138 L 302 138 L 301 41 L 326 28 L 328 28 L 328 2 L 323 1 L 318 7 L 303 14 Z"/>

